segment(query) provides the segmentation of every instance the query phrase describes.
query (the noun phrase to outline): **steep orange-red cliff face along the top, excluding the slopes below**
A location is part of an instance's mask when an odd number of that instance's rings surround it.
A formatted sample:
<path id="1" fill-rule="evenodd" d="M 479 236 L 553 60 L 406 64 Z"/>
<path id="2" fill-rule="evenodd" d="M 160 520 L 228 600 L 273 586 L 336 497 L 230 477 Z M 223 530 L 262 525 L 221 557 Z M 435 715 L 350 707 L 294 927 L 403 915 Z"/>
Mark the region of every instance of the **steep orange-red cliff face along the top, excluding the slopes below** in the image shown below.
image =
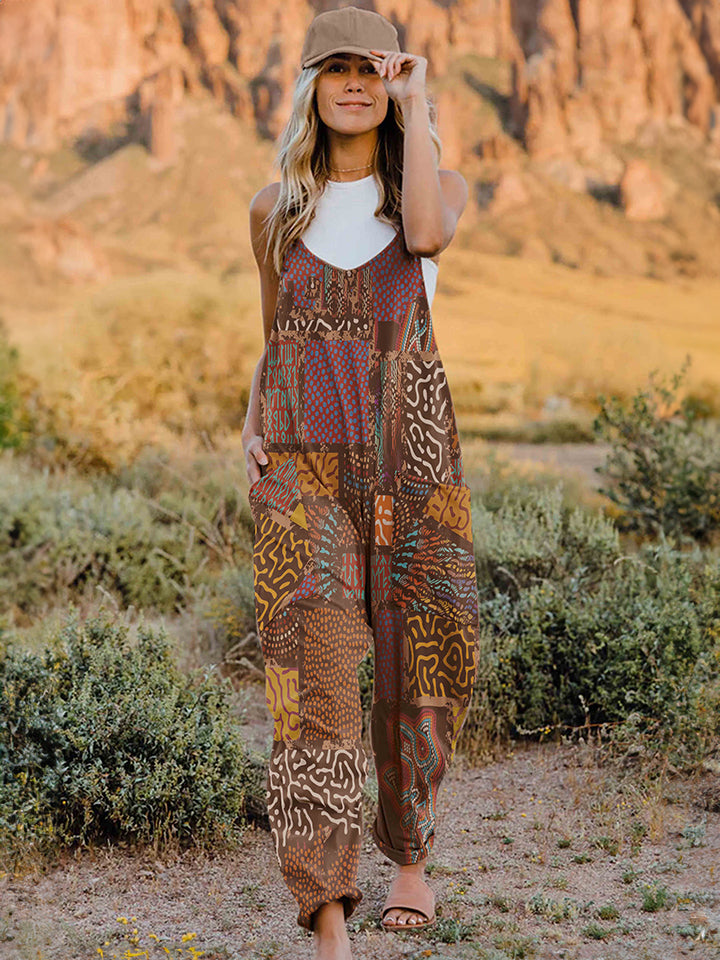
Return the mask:
<path id="1" fill-rule="evenodd" d="M 64 137 L 129 122 L 154 153 L 172 156 L 174 105 L 203 88 L 272 138 L 287 116 L 307 24 L 337 5 L 4 0 L 0 139 L 48 151 Z M 706 139 L 718 135 L 720 0 L 365 5 L 397 25 L 403 49 L 428 58 L 431 79 L 465 54 L 512 64 L 504 134 L 531 156 L 588 158 L 604 142 L 677 117 Z M 457 140 L 449 115 L 443 123 Z"/>

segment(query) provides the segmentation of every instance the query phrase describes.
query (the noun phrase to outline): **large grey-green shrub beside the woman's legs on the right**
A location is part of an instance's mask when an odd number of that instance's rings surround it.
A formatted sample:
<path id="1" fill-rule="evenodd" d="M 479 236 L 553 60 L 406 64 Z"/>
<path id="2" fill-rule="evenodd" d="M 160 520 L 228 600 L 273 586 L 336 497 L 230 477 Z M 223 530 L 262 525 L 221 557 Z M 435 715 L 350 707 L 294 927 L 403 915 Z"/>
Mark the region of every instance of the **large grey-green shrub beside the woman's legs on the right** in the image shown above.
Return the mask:
<path id="1" fill-rule="evenodd" d="M 474 510 L 482 633 L 464 749 L 622 723 L 692 764 L 720 745 L 720 557 L 622 556 L 611 521 L 535 494 Z M 638 720 L 639 718 L 639 720 Z"/>

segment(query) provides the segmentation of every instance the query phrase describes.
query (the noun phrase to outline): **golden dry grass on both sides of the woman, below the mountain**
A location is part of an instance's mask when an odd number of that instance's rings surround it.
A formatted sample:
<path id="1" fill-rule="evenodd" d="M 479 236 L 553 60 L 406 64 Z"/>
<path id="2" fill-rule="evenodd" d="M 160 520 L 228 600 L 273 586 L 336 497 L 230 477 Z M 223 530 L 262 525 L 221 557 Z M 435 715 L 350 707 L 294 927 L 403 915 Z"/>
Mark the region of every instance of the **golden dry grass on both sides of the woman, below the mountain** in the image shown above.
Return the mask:
<path id="1" fill-rule="evenodd" d="M 113 280 L 32 323 L 11 314 L 8 330 L 67 429 L 129 454 L 239 428 L 262 350 L 258 300 L 250 273 L 223 282 L 164 271 Z M 675 371 L 688 353 L 688 389 L 717 396 L 717 316 L 718 282 L 598 278 L 462 250 L 445 254 L 434 302 L 468 430 L 538 419 L 552 397 L 588 417 L 598 393 L 629 395 L 650 369 Z"/>

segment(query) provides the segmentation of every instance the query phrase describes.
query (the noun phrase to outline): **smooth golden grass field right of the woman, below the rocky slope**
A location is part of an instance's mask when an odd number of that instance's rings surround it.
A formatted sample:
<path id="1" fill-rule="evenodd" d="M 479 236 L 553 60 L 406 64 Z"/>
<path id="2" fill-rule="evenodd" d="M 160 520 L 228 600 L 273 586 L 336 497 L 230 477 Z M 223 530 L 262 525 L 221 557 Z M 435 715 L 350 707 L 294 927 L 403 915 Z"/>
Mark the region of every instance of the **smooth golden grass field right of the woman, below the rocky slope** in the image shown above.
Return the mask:
<path id="1" fill-rule="evenodd" d="M 716 281 L 595 277 L 452 249 L 443 270 L 436 337 L 463 413 L 478 399 L 519 413 L 557 395 L 578 405 L 598 392 L 629 395 L 687 353 L 689 388 L 720 387 Z"/>

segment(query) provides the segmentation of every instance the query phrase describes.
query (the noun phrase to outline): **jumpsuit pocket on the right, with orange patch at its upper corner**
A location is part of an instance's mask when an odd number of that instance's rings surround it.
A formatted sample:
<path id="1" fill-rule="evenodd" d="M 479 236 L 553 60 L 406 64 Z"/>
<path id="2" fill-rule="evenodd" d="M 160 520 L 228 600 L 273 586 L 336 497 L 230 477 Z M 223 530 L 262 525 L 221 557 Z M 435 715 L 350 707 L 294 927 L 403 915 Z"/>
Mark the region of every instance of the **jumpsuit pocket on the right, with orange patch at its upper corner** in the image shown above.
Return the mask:
<path id="1" fill-rule="evenodd" d="M 393 494 L 391 600 L 468 627 L 478 596 L 470 488 L 400 472 Z"/>

